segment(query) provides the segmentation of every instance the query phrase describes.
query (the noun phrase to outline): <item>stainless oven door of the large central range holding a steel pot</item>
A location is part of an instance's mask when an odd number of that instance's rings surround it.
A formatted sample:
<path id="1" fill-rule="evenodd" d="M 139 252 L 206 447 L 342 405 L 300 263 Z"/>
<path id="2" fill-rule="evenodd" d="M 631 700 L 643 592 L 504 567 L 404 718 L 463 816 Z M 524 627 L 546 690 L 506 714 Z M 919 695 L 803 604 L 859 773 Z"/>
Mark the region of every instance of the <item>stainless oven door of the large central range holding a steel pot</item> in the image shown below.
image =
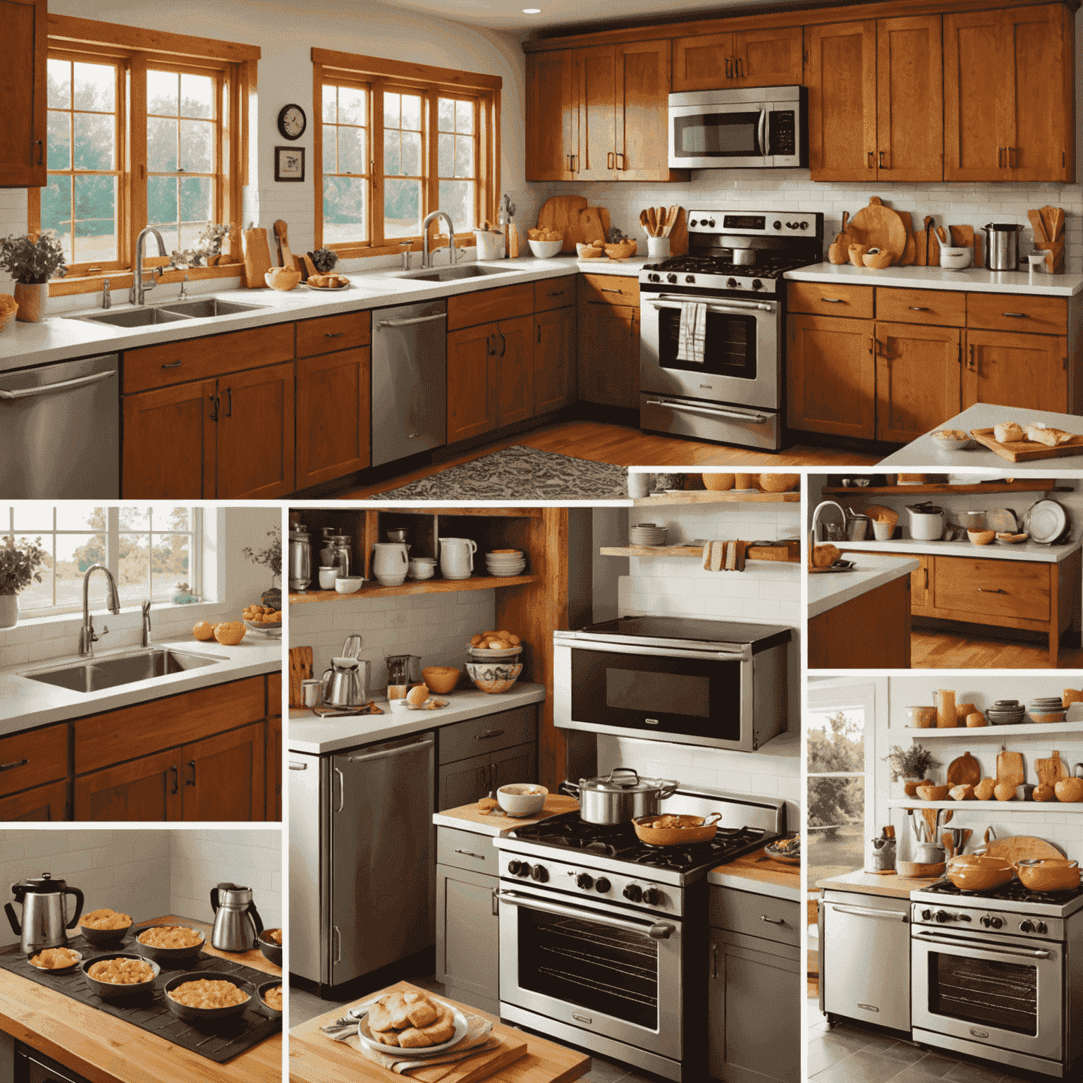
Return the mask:
<path id="1" fill-rule="evenodd" d="M 500 884 L 500 1000 L 680 1060 L 681 923 Z"/>

